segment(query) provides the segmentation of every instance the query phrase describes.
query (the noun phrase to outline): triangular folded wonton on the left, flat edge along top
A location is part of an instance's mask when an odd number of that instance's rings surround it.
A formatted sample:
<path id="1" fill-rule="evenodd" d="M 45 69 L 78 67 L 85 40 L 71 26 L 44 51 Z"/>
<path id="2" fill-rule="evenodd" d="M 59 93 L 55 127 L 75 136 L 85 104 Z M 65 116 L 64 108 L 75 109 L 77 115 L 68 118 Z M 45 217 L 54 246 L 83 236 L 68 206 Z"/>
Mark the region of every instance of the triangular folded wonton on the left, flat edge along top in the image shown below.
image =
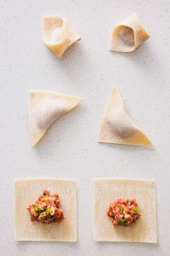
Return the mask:
<path id="1" fill-rule="evenodd" d="M 48 128 L 63 114 L 78 106 L 83 98 L 61 93 L 31 91 L 29 102 L 29 123 L 31 146 L 45 135 Z"/>

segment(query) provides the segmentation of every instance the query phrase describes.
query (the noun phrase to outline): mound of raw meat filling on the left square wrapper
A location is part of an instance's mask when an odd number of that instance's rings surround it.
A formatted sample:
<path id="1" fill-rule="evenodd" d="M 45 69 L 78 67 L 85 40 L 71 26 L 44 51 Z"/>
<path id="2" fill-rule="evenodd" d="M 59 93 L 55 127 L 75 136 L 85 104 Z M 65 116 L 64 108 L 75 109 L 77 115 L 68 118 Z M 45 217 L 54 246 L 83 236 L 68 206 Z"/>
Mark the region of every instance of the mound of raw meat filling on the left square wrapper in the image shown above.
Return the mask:
<path id="1" fill-rule="evenodd" d="M 63 210 L 60 208 L 58 194 L 51 195 L 48 190 L 43 190 L 42 195 L 37 198 L 35 204 L 29 205 L 31 221 L 52 223 L 63 221 Z"/>

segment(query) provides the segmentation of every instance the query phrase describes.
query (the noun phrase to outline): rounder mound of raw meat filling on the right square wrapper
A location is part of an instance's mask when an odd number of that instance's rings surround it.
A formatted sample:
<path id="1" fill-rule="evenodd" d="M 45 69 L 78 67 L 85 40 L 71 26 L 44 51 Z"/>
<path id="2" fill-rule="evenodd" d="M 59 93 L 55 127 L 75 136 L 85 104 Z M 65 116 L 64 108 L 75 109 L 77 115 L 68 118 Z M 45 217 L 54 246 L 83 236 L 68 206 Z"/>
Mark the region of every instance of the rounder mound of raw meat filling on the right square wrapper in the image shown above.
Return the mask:
<path id="1" fill-rule="evenodd" d="M 138 204 L 133 200 L 117 199 L 109 205 L 107 216 L 113 218 L 114 225 L 130 226 L 140 217 Z"/>

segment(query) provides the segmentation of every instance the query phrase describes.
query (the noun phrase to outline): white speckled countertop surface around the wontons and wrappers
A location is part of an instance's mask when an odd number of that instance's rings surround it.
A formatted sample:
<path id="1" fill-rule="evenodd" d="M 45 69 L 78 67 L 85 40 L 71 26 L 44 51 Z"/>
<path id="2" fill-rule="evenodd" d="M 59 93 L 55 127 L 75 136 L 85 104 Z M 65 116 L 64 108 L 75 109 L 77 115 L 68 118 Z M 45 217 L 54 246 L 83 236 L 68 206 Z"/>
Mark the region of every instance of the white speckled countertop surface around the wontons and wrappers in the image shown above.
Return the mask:
<path id="1" fill-rule="evenodd" d="M 169 9 L 169 0 L 1 0 L 0 255 L 170 255 Z M 109 52 L 112 28 L 132 12 L 151 38 L 131 54 Z M 62 60 L 42 42 L 44 15 L 65 17 L 82 36 Z M 130 116 L 154 149 L 97 143 L 112 85 L 117 85 Z M 34 149 L 28 131 L 31 89 L 86 98 Z M 14 242 L 14 179 L 44 176 L 76 180 L 77 243 Z M 102 177 L 155 179 L 158 244 L 94 242 L 93 179 Z"/>

